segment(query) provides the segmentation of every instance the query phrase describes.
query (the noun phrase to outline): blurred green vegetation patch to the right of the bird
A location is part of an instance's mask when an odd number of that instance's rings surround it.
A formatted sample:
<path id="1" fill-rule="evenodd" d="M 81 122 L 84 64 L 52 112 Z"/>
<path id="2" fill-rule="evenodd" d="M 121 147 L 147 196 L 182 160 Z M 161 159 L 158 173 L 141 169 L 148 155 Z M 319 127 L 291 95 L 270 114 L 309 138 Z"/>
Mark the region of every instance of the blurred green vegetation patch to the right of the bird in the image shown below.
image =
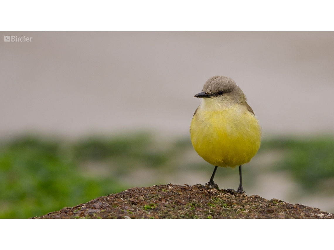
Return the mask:
<path id="1" fill-rule="evenodd" d="M 282 149 L 285 157 L 276 170 L 289 171 L 306 191 L 318 191 L 321 182 L 334 182 L 334 138 L 281 138 L 264 140 L 261 151 Z M 334 185 L 334 183 L 332 183 Z"/>

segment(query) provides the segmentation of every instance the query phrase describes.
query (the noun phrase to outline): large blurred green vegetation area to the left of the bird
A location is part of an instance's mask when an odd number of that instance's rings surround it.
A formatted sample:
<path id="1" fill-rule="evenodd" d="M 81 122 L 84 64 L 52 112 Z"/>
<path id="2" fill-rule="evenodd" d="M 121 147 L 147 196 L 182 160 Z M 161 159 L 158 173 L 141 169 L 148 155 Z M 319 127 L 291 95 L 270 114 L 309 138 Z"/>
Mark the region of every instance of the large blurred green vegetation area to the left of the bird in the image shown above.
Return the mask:
<path id="1" fill-rule="evenodd" d="M 0 145 L 0 218 L 41 216 L 120 192 L 132 186 L 115 177 L 138 166 L 161 167 L 176 158 L 180 147 L 182 142 L 161 150 L 147 133 L 77 142 L 40 136 L 7 141 Z M 113 172 L 96 176 L 93 164 L 93 174 L 87 174 L 80 168 L 87 162 L 103 162 Z"/>

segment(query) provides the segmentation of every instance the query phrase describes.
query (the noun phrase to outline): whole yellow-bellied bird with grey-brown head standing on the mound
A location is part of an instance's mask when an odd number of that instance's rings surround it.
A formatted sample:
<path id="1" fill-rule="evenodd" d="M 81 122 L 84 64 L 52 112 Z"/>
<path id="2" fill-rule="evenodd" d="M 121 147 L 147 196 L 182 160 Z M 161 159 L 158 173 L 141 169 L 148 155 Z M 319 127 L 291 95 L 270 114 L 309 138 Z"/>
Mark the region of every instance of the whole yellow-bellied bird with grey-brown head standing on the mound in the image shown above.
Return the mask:
<path id="1" fill-rule="evenodd" d="M 239 166 L 239 187 L 236 193 L 244 193 L 241 166 L 251 161 L 261 144 L 261 126 L 246 96 L 227 76 L 209 78 L 190 122 L 191 143 L 199 156 L 215 166 L 206 187 L 218 188 L 213 178 L 218 167 Z M 200 185 L 200 184 L 199 184 Z"/>

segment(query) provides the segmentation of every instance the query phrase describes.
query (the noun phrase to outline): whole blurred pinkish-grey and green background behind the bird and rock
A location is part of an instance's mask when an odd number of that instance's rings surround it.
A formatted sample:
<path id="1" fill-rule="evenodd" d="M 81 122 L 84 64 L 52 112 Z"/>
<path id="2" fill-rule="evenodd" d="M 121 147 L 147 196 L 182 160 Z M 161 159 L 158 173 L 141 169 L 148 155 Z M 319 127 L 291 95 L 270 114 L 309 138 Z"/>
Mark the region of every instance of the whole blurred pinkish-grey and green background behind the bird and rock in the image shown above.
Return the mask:
<path id="1" fill-rule="evenodd" d="M 333 32 L 0 32 L 0 218 L 205 184 L 193 96 L 233 78 L 263 128 L 247 195 L 334 212 Z M 238 170 L 219 168 L 220 188 Z"/>

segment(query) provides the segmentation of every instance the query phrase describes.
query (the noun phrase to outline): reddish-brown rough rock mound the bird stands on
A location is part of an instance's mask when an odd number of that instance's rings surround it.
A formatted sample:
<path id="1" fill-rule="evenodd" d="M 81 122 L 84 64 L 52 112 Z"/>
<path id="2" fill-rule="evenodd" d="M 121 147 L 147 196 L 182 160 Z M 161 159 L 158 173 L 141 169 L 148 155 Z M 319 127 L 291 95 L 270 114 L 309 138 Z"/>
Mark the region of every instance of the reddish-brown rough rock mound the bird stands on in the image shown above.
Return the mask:
<path id="1" fill-rule="evenodd" d="M 258 195 L 168 184 L 130 188 L 35 218 L 334 218 L 334 215 Z"/>

